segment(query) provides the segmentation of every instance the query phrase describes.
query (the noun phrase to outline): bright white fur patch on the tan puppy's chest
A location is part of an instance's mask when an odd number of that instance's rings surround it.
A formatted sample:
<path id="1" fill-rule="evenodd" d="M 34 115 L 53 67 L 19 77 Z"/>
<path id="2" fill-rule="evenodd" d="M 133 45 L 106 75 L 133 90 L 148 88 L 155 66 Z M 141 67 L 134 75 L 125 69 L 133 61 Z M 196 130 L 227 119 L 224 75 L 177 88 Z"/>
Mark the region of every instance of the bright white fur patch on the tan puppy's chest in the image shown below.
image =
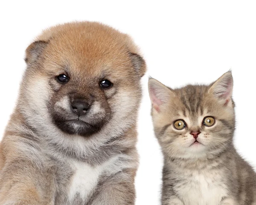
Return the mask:
<path id="1" fill-rule="evenodd" d="M 102 175 L 108 176 L 126 168 L 127 164 L 122 163 L 123 156 L 112 157 L 101 165 L 91 166 L 84 162 L 70 162 L 74 168 L 72 181 L 70 183 L 68 198 L 71 201 L 79 195 L 83 201 L 95 190 Z"/>

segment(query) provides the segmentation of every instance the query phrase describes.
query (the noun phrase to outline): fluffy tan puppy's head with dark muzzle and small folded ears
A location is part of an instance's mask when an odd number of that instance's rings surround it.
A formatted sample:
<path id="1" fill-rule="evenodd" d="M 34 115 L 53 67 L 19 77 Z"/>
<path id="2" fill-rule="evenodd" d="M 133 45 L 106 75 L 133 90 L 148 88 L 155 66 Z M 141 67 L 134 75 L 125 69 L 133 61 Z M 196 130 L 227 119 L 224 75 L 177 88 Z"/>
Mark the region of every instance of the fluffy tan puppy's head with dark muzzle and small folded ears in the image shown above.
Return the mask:
<path id="1" fill-rule="evenodd" d="M 55 26 L 26 49 L 26 63 L 21 97 L 34 124 L 90 136 L 137 117 L 145 62 L 126 34 L 99 23 Z"/>

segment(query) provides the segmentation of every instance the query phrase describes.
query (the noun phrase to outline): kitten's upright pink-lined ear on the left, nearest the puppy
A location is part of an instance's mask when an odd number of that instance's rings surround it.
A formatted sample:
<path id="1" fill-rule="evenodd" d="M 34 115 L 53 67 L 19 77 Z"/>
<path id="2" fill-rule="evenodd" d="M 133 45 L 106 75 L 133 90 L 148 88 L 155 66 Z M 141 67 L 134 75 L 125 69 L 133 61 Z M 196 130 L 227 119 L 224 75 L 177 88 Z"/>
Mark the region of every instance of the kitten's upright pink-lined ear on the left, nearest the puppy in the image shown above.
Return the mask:
<path id="1" fill-rule="evenodd" d="M 148 92 L 152 106 L 157 112 L 160 111 L 160 105 L 167 103 L 174 95 L 170 88 L 154 78 L 148 80 Z"/>

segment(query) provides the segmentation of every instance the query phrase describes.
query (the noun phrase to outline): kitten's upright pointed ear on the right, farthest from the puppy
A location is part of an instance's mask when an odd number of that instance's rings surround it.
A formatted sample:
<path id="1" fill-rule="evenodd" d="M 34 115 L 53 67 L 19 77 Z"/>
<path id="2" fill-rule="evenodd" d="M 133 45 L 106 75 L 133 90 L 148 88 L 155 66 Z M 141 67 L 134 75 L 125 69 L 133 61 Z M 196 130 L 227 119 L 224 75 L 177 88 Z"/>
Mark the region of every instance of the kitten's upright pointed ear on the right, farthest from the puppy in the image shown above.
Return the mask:
<path id="1" fill-rule="evenodd" d="M 212 93 L 219 100 L 222 100 L 224 105 L 228 105 L 232 101 L 232 91 L 233 77 L 231 71 L 223 74 L 209 89 L 209 93 Z"/>

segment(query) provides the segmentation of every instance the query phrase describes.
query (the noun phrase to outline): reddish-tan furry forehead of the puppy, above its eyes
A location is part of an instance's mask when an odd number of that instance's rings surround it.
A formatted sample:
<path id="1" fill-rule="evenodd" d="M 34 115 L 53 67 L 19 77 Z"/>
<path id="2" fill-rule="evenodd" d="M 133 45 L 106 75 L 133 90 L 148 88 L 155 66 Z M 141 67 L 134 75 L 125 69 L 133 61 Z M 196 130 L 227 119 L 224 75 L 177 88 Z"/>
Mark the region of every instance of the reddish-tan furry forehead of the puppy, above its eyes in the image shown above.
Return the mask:
<path id="1" fill-rule="evenodd" d="M 50 61 L 88 74 L 127 67 L 129 53 L 136 50 L 127 35 L 97 23 L 52 28 L 38 37 L 44 39 L 49 42 L 46 55 Z"/>

